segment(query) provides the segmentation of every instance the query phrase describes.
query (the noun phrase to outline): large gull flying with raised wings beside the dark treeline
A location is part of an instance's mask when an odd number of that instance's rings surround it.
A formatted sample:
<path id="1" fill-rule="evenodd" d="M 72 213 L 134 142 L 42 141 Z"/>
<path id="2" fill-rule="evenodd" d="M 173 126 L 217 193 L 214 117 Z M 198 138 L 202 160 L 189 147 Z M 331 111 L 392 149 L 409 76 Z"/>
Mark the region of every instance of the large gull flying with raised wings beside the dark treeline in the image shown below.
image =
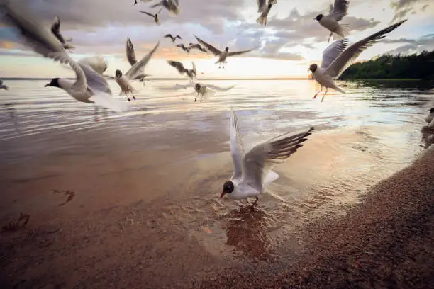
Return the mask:
<path id="1" fill-rule="evenodd" d="M 365 39 L 355 42 L 350 47 L 347 47 L 347 49 L 345 49 L 347 46 L 346 39 L 337 40 L 329 45 L 323 52 L 323 62 L 321 63 L 321 67 L 318 67 L 317 64 L 311 64 L 308 68 L 308 71 L 310 70 L 312 72 L 313 79 L 321 85 L 321 89 L 315 94 L 315 96 L 313 96 L 313 98 L 316 98 L 316 96 L 323 91 L 323 86 L 325 86 L 325 94 L 327 94 L 328 89 L 335 89 L 336 91 L 345 94 L 345 91 L 336 86 L 333 79 L 338 78 L 347 67 L 350 67 L 352 62 L 354 62 L 360 53 L 366 50 L 367 47 L 386 37 L 384 34 L 390 33 L 405 21 L 407 20 L 400 21 L 384 28 Z M 325 94 L 323 95 L 321 102 L 324 100 Z"/>

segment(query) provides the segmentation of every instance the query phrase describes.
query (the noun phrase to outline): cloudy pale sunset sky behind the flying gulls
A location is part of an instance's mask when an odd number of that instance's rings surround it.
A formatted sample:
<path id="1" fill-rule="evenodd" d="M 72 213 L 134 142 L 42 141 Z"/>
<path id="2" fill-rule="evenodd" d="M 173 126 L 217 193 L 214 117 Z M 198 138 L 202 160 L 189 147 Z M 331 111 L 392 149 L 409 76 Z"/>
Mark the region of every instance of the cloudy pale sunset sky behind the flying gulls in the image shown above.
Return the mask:
<path id="1" fill-rule="evenodd" d="M 172 16 L 163 9 L 160 26 L 141 11 L 160 0 L 133 5 L 134 0 L 11 0 L 33 11 L 50 27 L 55 16 L 62 21 L 65 38 L 76 47 L 71 54 L 79 60 L 101 55 L 109 63 L 106 74 L 115 69 L 128 70 L 125 45 L 129 37 L 136 57 L 143 57 L 160 41 L 160 47 L 145 69 L 157 78 L 179 78 L 167 60 L 177 60 L 191 67 L 194 61 L 199 78 L 307 78 L 308 66 L 321 63 L 329 45 L 328 30 L 313 18 L 328 13 L 333 0 L 278 0 L 269 13 L 267 26 L 256 23 L 255 0 L 179 0 L 180 13 Z M 0 1 L 1 2 L 1 1 Z M 15 3 L 14 3 L 15 4 Z M 155 12 L 156 13 L 156 12 Z M 1 17 L 1 16 L 0 16 Z M 369 47 L 357 61 L 377 55 L 409 54 L 434 50 L 434 2 L 432 0 L 350 0 L 348 15 L 341 23 L 350 28 L 348 40 L 357 42 L 396 21 L 408 21 L 377 44 Z M 218 69 L 216 57 L 199 50 L 187 52 L 162 38 L 179 34 L 179 43 L 196 42 L 194 35 L 223 50 L 255 48 L 241 57 L 228 59 L 225 69 Z M 338 39 L 338 38 L 336 38 Z M 28 50 L 15 30 L 0 24 L 0 77 L 74 77 L 57 62 Z"/>

